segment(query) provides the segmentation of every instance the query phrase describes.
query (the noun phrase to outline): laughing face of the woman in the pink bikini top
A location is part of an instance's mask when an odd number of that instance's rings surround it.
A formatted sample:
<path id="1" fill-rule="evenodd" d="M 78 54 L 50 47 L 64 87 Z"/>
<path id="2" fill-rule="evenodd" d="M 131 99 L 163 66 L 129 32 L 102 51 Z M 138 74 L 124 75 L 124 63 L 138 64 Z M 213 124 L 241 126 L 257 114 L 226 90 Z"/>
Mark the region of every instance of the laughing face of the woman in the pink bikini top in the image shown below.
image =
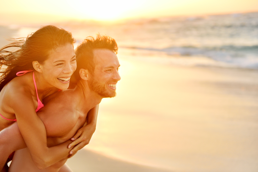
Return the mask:
<path id="1" fill-rule="evenodd" d="M 51 50 L 49 58 L 41 66 L 47 87 L 67 89 L 70 77 L 77 67 L 73 45 L 67 44 Z"/>

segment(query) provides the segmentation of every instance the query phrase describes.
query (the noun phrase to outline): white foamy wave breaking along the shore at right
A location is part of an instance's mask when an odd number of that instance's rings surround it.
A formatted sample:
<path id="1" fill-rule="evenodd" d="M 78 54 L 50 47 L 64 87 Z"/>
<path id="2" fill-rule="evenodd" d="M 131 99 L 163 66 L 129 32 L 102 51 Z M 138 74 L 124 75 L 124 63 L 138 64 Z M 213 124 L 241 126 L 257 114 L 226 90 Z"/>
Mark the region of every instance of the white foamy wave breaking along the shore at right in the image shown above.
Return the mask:
<path id="1" fill-rule="evenodd" d="M 219 46 L 219 47 L 168 47 L 168 48 L 142 48 L 123 47 L 137 50 L 163 52 L 167 55 L 202 56 L 211 58 L 239 68 L 258 69 L 258 45 L 252 46 Z"/>

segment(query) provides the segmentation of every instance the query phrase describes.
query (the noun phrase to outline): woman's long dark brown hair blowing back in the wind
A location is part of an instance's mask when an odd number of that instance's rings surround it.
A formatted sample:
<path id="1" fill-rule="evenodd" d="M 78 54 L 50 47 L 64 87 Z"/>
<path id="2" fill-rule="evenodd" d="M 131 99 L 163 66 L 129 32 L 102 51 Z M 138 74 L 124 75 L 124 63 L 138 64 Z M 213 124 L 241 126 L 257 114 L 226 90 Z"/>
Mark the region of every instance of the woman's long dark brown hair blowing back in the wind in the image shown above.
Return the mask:
<path id="1" fill-rule="evenodd" d="M 51 50 L 55 50 L 67 43 L 74 44 L 72 34 L 56 26 L 44 26 L 25 38 L 15 41 L 0 49 L 0 91 L 16 73 L 23 70 L 34 70 L 32 62 L 43 64 Z M 9 48 L 19 48 L 8 51 Z"/>

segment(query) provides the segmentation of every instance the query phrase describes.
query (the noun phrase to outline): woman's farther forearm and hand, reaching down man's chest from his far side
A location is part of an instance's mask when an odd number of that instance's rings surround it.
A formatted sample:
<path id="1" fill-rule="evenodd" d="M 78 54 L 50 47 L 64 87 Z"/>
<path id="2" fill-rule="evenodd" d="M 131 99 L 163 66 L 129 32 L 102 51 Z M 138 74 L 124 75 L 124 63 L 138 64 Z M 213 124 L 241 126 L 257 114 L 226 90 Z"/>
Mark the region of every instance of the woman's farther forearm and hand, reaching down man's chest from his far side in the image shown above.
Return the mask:
<path id="1" fill-rule="evenodd" d="M 97 116 L 98 116 L 99 105 L 92 108 L 88 114 L 88 121 L 85 122 L 84 126 L 77 131 L 77 133 L 71 138 L 73 143 L 69 144 L 68 148 L 75 146 L 70 154 L 76 153 L 82 149 L 85 145 L 89 144 L 91 136 L 96 130 Z"/>

